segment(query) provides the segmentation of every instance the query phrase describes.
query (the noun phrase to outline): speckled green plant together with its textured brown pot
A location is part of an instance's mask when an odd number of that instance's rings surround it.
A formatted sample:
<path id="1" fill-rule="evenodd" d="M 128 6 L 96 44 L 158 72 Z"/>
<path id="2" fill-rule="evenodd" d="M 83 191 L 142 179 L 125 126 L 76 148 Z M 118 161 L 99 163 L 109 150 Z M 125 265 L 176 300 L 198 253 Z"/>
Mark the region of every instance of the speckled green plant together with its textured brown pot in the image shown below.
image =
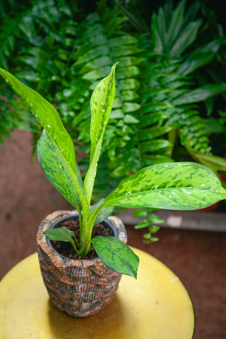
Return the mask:
<path id="1" fill-rule="evenodd" d="M 91 96 L 90 165 L 84 184 L 73 141 L 55 107 L 0 68 L 0 75 L 44 127 L 37 144 L 44 174 L 76 207 L 76 211 L 48 215 L 39 226 L 37 241 L 41 272 L 50 298 L 60 310 L 79 317 L 95 314 L 111 301 L 121 274 L 137 278 L 139 258 L 126 245 L 125 227 L 117 217 L 109 217 L 114 206 L 196 210 L 226 197 L 219 179 L 207 167 L 192 162 L 163 163 L 131 175 L 90 207 L 103 135 L 115 96 L 115 67 Z M 65 220 L 66 223 L 75 220 L 79 231 L 68 230 Z M 108 236 L 95 234 L 100 223 Z M 74 257 L 59 254 L 53 247 L 56 241 L 70 243 Z"/>

